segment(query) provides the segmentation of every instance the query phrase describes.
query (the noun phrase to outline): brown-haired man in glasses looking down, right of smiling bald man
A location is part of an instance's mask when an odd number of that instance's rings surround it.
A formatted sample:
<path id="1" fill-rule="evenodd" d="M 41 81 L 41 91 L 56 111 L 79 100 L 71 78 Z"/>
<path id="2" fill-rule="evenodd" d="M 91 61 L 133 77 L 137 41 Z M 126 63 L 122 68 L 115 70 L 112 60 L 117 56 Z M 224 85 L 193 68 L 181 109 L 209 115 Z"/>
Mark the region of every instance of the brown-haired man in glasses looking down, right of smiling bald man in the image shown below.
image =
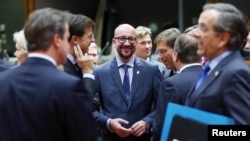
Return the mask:
<path id="1" fill-rule="evenodd" d="M 169 78 L 176 74 L 176 68 L 173 63 L 172 53 L 174 48 L 174 42 L 180 35 L 180 31 L 177 28 L 170 28 L 162 31 L 155 37 L 156 54 L 159 60 L 164 63 L 169 71 L 166 71 L 164 78 Z"/>

